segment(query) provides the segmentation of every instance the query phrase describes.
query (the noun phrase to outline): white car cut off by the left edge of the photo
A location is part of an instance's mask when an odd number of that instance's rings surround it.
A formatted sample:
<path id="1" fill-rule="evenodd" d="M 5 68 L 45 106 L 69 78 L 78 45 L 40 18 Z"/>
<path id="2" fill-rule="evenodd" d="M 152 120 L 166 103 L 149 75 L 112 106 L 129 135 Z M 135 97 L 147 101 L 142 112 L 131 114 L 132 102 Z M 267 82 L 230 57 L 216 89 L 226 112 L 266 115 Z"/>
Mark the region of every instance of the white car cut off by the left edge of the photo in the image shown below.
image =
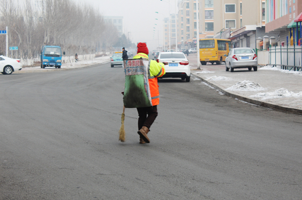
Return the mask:
<path id="1" fill-rule="evenodd" d="M 21 69 L 22 65 L 20 60 L 0 56 L 0 72 L 2 74 L 12 74 L 13 72 Z"/>

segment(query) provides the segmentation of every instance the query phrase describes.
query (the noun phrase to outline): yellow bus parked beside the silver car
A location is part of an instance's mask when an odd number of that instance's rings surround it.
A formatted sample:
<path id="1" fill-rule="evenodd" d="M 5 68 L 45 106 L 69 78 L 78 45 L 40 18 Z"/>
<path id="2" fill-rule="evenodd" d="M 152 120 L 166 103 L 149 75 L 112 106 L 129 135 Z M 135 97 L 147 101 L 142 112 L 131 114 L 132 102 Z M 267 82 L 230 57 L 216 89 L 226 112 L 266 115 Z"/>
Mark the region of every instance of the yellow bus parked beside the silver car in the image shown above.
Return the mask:
<path id="1" fill-rule="evenodd" d="M 231 40 L 225 39 L 201 39 L 199 40 L 199 55 L 201 65 L 216 63 L 220 65 L 225 61 L 225 54 L 231 50 Z"/>

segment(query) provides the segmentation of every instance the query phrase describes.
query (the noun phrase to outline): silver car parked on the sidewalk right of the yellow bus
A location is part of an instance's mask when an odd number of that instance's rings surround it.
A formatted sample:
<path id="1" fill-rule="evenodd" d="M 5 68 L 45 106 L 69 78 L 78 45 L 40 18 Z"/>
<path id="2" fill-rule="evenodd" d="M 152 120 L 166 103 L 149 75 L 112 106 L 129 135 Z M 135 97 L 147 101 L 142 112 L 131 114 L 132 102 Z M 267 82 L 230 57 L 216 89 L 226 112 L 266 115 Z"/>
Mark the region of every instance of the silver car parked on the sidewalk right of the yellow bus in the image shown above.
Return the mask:
<path id="1" fill-rule="evenodd" d="M 227 55 L 224 55 L 227 56 Z M 225 71 L 234 72 L 235 68 L 248 68 L 257 71 L 257 55 L 251 48 L 234 48 L 225 58 Z"/>

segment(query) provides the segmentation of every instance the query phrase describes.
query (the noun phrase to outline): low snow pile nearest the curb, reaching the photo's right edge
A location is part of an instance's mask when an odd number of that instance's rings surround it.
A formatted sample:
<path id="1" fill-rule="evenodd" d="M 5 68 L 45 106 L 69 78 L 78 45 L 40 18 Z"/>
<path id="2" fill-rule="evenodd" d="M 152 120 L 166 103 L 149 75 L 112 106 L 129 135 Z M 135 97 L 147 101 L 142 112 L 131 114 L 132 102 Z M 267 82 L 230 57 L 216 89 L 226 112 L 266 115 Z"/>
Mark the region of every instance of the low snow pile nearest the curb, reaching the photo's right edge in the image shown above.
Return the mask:
<path id="1" fill-rule="evenodd" d="M 287 89 L 281 88 L 275 90 L 274 92 L 264 92 L 264 93 L 251 95 L 251 97 L 260 98 L 262 100 L 282 98 L 282 97 L 302 97 L 302 92 L 294 93 L 294 92 L 289 92 Z"/>

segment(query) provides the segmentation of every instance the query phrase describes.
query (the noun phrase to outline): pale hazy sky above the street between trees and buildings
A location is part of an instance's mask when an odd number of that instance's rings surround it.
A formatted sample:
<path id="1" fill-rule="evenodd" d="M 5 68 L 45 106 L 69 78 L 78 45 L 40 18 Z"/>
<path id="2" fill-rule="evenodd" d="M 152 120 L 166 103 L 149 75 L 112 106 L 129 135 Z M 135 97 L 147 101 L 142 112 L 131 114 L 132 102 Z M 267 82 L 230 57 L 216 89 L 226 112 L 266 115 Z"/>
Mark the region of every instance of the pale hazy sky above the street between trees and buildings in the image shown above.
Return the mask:
<path id="1" fill-rule="evenodd" d="M 177 2 L 177 0 L 71 1 L 93 5 L 103 16 L 123 16 L 123 32 L 126 37 L 129 36 L 130 40 L 134 43 L 146 42 L 149 51 L 155 50 L 159 44 L 163 46 L 163 19 L 169 17 L 169 8 L 170 13 L 175 14 Z M 159 14 L 155 12 L 159 12 Z M 154 30 L 156 31 L 154 32 Z"/>

